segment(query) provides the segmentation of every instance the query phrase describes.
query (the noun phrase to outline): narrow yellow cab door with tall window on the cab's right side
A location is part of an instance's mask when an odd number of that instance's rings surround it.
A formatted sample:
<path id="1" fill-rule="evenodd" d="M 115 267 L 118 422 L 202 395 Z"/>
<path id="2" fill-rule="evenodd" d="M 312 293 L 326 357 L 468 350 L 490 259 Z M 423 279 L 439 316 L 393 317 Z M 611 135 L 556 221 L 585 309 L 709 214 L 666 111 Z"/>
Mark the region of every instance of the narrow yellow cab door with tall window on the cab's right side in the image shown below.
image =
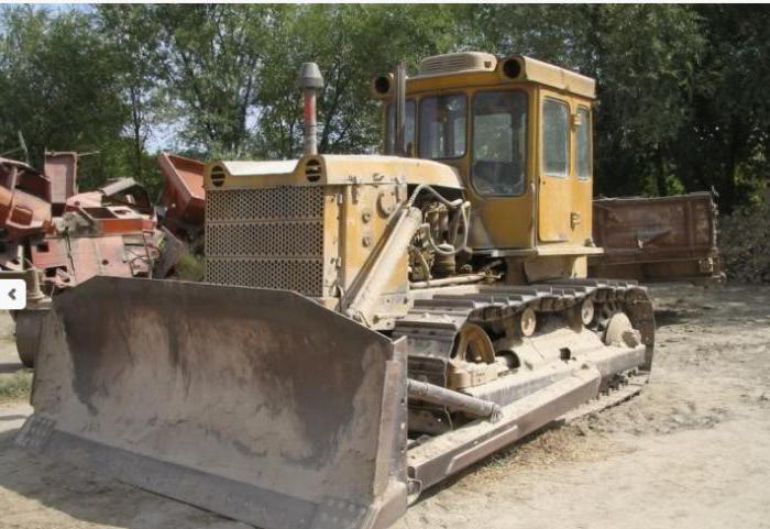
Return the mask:
<path id="1" fill-rule="evenodd" d="M 540 90 L 540 156 L 538 167 L 538 239 L 572 239 L 570 101 L 557 92 Z"/>

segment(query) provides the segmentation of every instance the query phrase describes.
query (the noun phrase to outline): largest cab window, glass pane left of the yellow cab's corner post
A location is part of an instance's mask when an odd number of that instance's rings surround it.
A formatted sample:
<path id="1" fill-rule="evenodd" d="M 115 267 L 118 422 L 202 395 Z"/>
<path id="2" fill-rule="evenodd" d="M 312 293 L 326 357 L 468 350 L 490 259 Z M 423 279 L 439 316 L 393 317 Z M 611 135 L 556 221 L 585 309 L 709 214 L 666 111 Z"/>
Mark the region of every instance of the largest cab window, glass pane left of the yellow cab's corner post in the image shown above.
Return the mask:
<path id="1" fill-rule="evenodd" d="M 527 93 L 485 91 L 473 98 L 474 189 L 481 195 L 521 195 L 527 167 Z"/>

